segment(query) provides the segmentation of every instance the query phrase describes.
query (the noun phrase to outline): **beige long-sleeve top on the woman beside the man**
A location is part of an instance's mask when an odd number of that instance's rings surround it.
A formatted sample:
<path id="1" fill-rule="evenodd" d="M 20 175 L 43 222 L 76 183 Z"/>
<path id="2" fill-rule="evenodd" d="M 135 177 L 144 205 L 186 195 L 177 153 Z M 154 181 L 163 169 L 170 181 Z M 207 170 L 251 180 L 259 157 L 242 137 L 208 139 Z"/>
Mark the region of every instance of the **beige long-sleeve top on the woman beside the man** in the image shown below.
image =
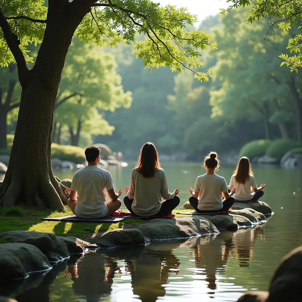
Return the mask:
<path id="1" fill-rule="evenodd" d="M 162 198 L 172 199 L 174 193 L 169 192 L 163 169 L 156 171 L 153 177 L 145 178 L 134 168 L 131 172 L 130 190 L 127 196 L 133 199 L 132 210 L 135 214 L 152 216 L 160 210 Z"/>

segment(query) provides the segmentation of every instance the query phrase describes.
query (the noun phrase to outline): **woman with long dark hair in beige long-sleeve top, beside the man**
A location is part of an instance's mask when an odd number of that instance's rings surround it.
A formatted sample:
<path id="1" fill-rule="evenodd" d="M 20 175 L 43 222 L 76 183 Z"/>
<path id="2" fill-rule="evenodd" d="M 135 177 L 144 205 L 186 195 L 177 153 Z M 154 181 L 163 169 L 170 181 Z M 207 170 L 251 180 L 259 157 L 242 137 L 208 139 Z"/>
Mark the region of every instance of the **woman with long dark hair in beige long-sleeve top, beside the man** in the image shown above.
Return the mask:
<path id="1" fill-rule="evenodd" d="M 130 188 L 125 187 L 125 192 L 124 204 L 134 216 L 165 216 L 178 206 L 179 190 L 169 192 L 153 143 L 145 143 L 140 150 L 137 166 L 131 172 Z"/>

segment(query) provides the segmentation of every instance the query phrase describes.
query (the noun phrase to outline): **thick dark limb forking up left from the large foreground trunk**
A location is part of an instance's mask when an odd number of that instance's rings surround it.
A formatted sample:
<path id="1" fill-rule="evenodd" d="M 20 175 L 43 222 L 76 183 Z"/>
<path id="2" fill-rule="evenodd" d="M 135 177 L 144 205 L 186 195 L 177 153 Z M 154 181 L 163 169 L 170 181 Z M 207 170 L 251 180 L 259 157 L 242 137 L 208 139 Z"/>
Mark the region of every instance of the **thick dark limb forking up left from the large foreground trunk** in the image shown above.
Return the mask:
<path id="1" fill-rule="evenodd" d="M 8 24 L 2 10 L 0 9 L 0 27 L 2 28 L 4 38 L 6 43 L 13 54 L 17 67 L 18 67 L 18 77 L 21 86 L 23 87 L 26 84 L 27 72 L 29 71 L 24 55 L 19 48 L 20 40 L 18 37 L 11 31 L 11 27 Z"/>

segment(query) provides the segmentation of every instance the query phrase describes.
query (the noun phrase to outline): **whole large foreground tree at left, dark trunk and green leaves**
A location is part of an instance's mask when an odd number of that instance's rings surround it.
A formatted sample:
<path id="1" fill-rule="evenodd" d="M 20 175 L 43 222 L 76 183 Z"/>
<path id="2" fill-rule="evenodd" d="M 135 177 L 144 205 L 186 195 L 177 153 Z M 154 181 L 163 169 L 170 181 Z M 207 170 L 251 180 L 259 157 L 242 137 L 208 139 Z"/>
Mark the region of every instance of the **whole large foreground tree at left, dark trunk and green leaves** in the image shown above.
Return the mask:
<path id="1" fill-rule="evenodd" d="M 146 36 L 135 43 L 135 54 L 150 69 L 168 66 L 173 71 L 201 66 L 196 48 L 216 47 L 210 35 L 185 31 L 196 17 L 185 9 L 159 7 L 151 1 L 120 0 L 2 1 L 0 49 L 2 65 L 16 62 L 22 87 L 18 122 L 8 170 L 0 185 L 0 204 L 26 204 L 63 210 L 66 202 L 50 163 L 53 110 L 72 37 L 98 45 L 131 43 L 136 34 Z M 37 26 L 36 26 L 37 25 Z M 14 31 L 14 32 L 13 32 Z M 32 69 L 26 51 L 28 42 L 41 43 Z M 208 72 L 194 71 L 207 80 Z M 29 117 L 31 117 L 29 119 Z M 38 160 L 37 160 L 38 159 Z"/>

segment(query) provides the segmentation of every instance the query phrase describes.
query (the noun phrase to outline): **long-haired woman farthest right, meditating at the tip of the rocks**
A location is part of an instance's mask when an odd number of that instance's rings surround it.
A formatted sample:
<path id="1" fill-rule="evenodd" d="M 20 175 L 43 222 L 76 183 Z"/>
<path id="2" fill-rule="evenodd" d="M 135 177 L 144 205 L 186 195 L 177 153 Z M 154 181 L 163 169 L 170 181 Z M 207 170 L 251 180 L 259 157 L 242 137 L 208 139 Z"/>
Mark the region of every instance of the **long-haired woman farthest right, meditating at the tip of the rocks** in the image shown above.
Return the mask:
<path id="1" fill-rule="evenodd" d="M 257 188 L 251 164 L 247 157 L 239 159 L 236 170 L 230 179 L 229 189 L 232 187 L 237 189 L 234 198 L 238 202 L 257 201 L 264 194 L 262 189 L 265 184 Z"/>

